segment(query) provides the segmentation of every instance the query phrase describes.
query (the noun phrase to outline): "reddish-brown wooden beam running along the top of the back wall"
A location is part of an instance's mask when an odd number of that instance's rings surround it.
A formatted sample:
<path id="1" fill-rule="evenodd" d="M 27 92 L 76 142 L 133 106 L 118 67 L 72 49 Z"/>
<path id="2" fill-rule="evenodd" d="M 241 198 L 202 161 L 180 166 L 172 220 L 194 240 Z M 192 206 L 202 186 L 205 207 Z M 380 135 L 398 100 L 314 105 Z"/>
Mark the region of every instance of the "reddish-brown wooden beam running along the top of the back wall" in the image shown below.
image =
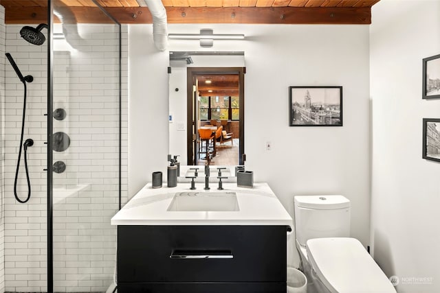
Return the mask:
<path id="1" fill-rule="evenodd" d="M 70 7 L 69 23 L 111 23 L 99 8 Z M 120 23 L 151 23 L 146 7 L 107 11 Z M 5 23 L 45 23 L 47 8 L 8 7 Z M 279 7 L 279 8 L 166 8 L 168 23 L 278 23 L 278 24 L 370 24 L 371 8 Z"/>

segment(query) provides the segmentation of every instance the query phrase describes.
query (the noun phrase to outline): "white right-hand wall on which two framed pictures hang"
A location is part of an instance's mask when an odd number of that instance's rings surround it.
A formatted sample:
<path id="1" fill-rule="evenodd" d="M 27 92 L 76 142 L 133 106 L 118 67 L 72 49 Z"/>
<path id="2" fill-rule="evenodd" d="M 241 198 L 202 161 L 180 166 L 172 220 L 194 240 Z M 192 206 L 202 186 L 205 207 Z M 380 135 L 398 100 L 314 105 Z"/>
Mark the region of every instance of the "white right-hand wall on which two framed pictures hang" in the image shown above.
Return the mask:
<path id="1" fill-rule="evenodd" d="M 440 1 L 382 0 L 372 15 L 373 253 L 398 292 L 440 292 L 440 165 L 421 159 L 422 118 L 440 117 L 439 100 L 421 99 L 422 59 L 440 54 Z"/>

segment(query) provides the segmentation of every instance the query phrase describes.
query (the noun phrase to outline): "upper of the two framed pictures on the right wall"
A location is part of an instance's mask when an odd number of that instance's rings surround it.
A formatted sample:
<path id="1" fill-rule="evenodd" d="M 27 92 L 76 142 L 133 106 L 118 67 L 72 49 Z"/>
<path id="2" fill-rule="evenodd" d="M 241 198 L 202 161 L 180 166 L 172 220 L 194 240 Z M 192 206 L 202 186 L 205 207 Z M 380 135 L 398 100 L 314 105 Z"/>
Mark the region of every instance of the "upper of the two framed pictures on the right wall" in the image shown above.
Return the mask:
<path id="1" fill-rule="evenodd" d="M 423 99 L 440 98 L 440 55 L 423 59 Z"/>

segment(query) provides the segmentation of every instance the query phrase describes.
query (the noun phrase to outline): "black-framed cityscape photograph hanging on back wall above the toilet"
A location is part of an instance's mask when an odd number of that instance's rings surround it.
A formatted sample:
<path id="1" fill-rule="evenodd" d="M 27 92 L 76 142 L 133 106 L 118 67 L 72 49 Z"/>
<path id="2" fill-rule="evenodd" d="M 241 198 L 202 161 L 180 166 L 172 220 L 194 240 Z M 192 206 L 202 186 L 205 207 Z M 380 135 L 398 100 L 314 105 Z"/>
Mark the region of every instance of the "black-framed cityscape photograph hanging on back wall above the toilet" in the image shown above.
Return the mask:
<path id="1" fill-rule="evenodd" d="M 342 86 L 289 86 L 289 126 L 342 126 Z"/>

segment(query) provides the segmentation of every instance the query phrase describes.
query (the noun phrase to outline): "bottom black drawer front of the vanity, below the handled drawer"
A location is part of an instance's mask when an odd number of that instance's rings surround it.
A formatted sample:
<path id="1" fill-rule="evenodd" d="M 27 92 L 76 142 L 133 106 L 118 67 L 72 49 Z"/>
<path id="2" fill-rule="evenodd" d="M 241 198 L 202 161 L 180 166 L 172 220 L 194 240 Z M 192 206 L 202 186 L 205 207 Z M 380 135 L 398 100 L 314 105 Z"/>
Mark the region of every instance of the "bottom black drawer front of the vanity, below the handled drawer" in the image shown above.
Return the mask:
<path id="1" fill-rule="evenodd" d="M 286 283 L 122 283 L 118 293 L 286 293 Z"/>

